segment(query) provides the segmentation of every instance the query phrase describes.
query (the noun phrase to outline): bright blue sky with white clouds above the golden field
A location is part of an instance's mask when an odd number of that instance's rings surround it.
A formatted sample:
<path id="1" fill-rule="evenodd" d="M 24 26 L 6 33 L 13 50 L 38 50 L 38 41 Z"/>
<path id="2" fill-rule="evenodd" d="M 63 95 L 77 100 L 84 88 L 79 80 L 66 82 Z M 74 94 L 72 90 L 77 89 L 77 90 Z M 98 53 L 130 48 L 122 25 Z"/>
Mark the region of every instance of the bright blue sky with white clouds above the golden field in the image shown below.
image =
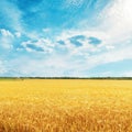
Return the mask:
<path id="1" fill-rule="evenodd" d="M 132 76 L 131 0 L 0 0 L 0 76 Z"/>

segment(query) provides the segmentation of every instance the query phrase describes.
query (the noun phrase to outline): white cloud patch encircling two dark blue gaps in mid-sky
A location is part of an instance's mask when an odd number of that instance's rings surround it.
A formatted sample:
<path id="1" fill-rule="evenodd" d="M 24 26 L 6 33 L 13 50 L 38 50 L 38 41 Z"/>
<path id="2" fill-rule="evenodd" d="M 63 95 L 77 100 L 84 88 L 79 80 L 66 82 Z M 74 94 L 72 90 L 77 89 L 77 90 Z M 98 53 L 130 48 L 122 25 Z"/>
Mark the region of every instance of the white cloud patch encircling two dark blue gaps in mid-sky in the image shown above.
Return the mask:
<path id="1" fill-rule="evenodd" d="M 86 38 L 79 40 L 82 46 L 76 48 L 76 46 L 70 43 L 69 38 L 78 35 L 82 35 Z M 109 35 L 107 35 L 105 32 L 101 32 L 101 31 L 69 30 L 69 31 L 64 31 L 62 32 L 61 35 L 56 36 L 56 42 L 64 41 L 66 44 L 65 47 L 68 48 L 70 52 L 73 51 L 76 51 L 76 53 L 77 51 L 78 52 L 84 52 L 84 51 L 97 52 L 99 48 L 89 44 L 88 37 L 90 36 L 97 37 L 102 41 L 101 45 L 99 45 L 98 47 L 105 46 L 105 44 L 107 43 L 107 38 L 109 38 Z M 111 45 L 111 44 L 108 43 L 107 45 Z"/>

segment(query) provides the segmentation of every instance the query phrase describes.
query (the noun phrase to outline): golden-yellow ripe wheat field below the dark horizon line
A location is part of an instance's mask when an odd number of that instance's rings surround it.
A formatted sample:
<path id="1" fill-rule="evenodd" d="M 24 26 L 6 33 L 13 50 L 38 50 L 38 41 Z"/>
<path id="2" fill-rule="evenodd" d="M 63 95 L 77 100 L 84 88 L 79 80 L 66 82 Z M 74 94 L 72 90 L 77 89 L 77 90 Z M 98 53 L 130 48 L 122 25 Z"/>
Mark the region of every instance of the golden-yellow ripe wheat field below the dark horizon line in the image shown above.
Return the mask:
<path id="1" fill-rule="evenodd" d="M 0 80 L 0 132 L 132 132 L 132 80 Z"/>

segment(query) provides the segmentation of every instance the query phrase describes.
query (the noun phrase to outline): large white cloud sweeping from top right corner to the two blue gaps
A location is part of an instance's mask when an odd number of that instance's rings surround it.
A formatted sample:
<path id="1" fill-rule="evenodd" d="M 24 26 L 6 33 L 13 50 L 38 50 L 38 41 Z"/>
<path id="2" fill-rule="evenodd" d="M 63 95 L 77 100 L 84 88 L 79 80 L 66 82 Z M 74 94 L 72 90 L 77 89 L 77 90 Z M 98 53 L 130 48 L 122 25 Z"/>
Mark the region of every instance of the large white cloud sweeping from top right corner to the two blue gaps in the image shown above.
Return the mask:
<path id="1" fill-rule="evenodd" d="M 70 51 L 70 55 L 85 56 L 87 63 L 80 67 L 91 68 L 106 63 L 119 62 L 123 59 L 132 59 L 132 1 L 131 0 L 114 0 L 111 4 L 101 12 L 102 23 L 89 30 L 64 31 L 56 40 L 63 40 L 66 47 Z M 102 41 L 102 44 L 95 47 L 81 42 L 81 47 L 72 46 L 67 41 L 76 35 L 95 36 Z M 92 53 L 89 55 L 89 53 Z M 78 58 L 79 59 L 79 58 Z"/>

